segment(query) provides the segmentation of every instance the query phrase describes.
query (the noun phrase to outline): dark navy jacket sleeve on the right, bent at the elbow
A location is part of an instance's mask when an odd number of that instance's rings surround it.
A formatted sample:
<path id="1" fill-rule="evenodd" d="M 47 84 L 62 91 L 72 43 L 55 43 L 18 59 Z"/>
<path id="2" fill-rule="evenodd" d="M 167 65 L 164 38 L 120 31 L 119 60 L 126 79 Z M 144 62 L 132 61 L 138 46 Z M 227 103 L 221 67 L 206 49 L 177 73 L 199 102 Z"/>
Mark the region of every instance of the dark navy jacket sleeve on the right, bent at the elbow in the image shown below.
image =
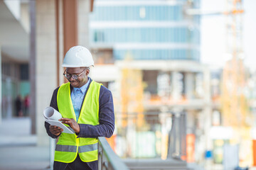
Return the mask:
<path id="1" fill-rule="evenodd" d="M 79 124 L 78 137 L 111 137 L 114 132 L 114 104 L 111 91 L 100 87 L 99 125 Z"/>

